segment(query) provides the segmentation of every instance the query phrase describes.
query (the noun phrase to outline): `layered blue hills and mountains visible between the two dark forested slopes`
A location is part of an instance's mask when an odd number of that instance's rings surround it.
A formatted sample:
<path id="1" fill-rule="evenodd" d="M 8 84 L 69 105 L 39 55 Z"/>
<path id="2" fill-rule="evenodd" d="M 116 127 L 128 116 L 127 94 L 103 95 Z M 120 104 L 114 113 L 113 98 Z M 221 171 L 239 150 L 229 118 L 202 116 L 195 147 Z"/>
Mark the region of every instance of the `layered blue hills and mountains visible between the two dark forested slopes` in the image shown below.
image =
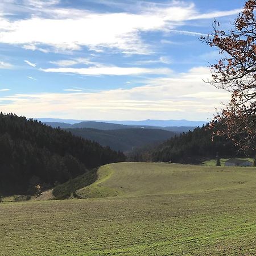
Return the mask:
<path id="1" fill-rule="evenodd" d="M 96 141 L 102 146 L 109 146 L 113 150 L 123 152 L 148 144 L 162 143 L 176 134 L 187 133 L 187 131 L 192 131 L 205 123 L 203 121 L 150 119 L 145 121 L 110 121 L 111 123 L 52 118 L 39 118 L 38 120 L 53 128 L 67 129 L 75 136 Z"/>

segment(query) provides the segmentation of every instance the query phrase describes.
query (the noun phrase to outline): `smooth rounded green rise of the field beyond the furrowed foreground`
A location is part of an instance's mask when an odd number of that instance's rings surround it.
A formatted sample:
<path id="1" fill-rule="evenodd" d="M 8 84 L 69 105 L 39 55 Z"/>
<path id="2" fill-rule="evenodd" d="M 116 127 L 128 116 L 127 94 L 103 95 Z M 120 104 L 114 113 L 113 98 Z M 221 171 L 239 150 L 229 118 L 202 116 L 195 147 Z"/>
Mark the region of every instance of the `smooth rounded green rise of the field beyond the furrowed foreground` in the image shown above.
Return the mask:
<path id="1" fill-rule="evenodd" d="M 100 167 L 98 179 L 77 191 L 81 197 L 131 197 L 199 193 L 253 187 L 256 168 L 189 166 L 169 163 L 114 163 Z M 252 176 L 251 176 L 252 175 Z M 246 177 L 247 176 L 247 177 Z M 240 182 L 241 181 L 241 182 Z"/>

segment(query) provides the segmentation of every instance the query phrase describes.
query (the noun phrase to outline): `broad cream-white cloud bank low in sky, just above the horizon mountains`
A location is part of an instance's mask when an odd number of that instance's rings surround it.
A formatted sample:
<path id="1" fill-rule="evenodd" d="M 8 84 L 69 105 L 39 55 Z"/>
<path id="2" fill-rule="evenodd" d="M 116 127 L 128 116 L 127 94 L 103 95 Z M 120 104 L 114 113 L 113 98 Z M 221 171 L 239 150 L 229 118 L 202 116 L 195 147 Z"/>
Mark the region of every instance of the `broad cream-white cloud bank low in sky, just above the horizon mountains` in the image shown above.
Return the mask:
<path id="1" fill-rule="evenodd" d="M 64 117 L 77 119 L 207 119 L 227 98 L 225 92 L 203 82 L 210 78 L 208 68 L 193 68 L 145 81 L 135 88 L 101 92 L 14 94 L 1 97 L 1 109 L 27 117 Z M 69 90 L 69 91 L 68 91 Z M 196 93 L 197 92 L 197 93 Z"/>

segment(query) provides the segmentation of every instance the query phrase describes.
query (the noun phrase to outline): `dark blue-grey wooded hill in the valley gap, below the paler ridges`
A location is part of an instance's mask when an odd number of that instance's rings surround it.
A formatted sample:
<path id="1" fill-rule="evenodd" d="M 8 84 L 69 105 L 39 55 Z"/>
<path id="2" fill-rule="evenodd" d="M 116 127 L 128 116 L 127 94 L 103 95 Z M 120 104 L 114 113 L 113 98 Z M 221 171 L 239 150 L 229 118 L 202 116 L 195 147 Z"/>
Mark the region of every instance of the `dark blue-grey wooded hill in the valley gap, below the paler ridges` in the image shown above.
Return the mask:
<path id="1" fill-rule="evenodd" d="M 113 150 L 131 151 L 135 147 L 147 144 L 160 143 L 174 137 L 172 131 L 159 129 L 118 129 L 118 130 L 96 130 L 96 129 L 67 129 L 73 135 L 96 141 L 102 146 L 109 146 Z"/>

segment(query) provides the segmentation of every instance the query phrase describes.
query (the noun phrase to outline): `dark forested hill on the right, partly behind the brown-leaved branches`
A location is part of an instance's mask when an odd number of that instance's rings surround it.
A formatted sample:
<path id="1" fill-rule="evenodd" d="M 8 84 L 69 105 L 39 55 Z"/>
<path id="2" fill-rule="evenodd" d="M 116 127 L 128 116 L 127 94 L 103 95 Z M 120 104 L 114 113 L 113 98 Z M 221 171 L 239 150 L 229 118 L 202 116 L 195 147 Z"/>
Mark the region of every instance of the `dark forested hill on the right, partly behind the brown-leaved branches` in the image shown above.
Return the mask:
<path id="1" fill-rule="evenodd" d="M 174 162 L 174 163 L 199 163 L 201 159 L 216 158 L 216 154 L 221 158 L 234 156 L 244 156 L 239 153 L 234 143 L 226 137 L 215 136 L 212 141 L 213 130 L 209 126 L 197 127 L 193 131 L 175 136 L 160 144 L 150 151 L 143 150 L 134 152 L 131 160 L 153 162 Z M 247 152 L 253 155 L 253 152 Z"/>

